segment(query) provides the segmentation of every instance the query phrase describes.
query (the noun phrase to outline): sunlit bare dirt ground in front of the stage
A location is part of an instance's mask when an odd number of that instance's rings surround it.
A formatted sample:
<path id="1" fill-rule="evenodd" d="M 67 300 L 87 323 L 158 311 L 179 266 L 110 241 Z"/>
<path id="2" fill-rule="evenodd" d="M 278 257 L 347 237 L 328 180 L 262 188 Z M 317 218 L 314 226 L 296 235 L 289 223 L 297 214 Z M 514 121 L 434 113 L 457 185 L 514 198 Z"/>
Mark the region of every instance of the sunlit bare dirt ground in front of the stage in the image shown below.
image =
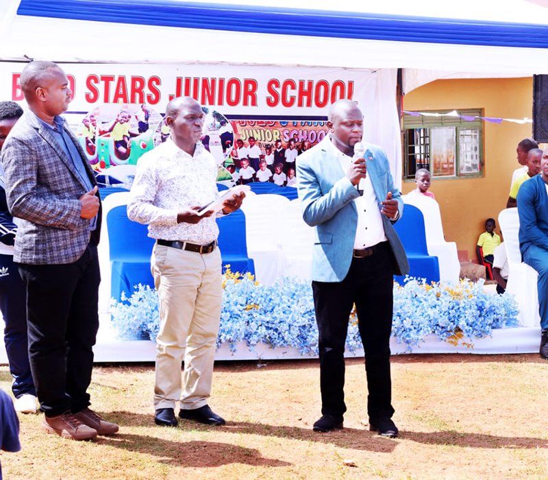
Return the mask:
<path id="1" fill-rule="evenodd" d="M 400 437 L 368 431 L 362 359 L 347 361 L 345 429 L 316 433 L 316 360 L 216 364 L 226 427 L 153 424 L 153 365 L 94 370 L 92 408 L 118 434 L 73 442 L 21 416 L 5 479 L 547 479 L 548 363 L 538 355 L 393 357 Z M 0 387 L 10 389 L 7 367 Z"/>

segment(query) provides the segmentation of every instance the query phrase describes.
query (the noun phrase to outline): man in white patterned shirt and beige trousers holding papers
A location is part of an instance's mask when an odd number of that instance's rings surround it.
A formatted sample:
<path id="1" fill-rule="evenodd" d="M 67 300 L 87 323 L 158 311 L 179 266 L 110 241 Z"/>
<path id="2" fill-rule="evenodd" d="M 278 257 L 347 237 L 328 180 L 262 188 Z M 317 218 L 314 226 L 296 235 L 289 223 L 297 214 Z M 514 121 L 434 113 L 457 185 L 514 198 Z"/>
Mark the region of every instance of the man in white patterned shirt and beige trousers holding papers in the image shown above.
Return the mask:
<path id="1" fill-rule="evenodd" d="M 215 160 L 199 141 L 204 118 L 190 97 L 169 102 L 170 137 L 139 159 L 127 205 L 128 217 L 149 224 L 149 237 L 156 239 L 151 270 L 160 297 L 154 387 L 158 425 L 177 425 L 178 401 L 180 418 L 225 424 L 208 406 L 222 285 L 219 228 L 212 212 L 197 215 L 201 205 L 219 195 Z M 227 200 L 221 213 L 236 211 L 243 197 Z"/>

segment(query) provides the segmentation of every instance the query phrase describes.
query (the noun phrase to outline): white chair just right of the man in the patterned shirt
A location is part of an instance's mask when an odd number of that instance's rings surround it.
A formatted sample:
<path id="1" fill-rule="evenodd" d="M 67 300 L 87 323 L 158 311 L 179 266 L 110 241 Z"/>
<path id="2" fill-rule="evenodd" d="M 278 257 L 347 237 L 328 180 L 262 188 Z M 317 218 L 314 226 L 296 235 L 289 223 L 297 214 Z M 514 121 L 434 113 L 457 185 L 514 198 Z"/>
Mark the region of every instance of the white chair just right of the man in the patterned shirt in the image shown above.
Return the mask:
<path id="1" fill-rule="evenodd" d="M 279 240 L 279 218 L 288 203 L 283 195 L 269 193 L 247 195 L 242 202 L 247 255 L 253 259 L 256 279 L 263 285 L 272 285 L 284 275 L 286 263 Z"/>

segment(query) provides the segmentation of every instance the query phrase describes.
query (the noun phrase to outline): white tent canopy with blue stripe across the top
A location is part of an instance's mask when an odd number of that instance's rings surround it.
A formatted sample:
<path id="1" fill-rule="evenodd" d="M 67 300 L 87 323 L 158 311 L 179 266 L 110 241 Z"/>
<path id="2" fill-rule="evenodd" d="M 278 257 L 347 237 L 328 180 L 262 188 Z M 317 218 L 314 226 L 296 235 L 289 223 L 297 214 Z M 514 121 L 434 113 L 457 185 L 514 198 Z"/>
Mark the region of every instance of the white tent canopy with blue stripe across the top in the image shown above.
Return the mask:
<path id="1" fill-rule="evenodd" d="M 546 0 L 3 0 L 0 59 L 529 76 L 548 73 L 547 7 Z"/>

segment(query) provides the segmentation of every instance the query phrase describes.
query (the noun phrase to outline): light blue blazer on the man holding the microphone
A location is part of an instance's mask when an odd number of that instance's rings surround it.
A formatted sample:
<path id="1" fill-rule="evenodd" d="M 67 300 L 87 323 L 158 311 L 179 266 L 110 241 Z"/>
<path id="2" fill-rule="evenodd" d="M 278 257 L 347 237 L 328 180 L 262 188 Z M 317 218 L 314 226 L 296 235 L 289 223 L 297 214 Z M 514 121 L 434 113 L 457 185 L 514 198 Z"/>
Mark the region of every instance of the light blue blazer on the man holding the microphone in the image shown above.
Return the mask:
<path id="1" fill-rule="evenodd" d="M 297 189 L 301 199 L 303 219 L 314 227 L 314 250 L 312 253 L 312 280 L 318 282 L 341 282 L 348 274 L 358 211 L 353 200 L 360 194 L 351 184 L 332 151 L 331 141 L 326 136 L 321 143 L 297 157 Z M 394 187 L 388 159 L 382 148 L 364 143 L 367 174 L 380 202 L 389 191 L 398 202 L 399 217 L 403 213 L 401 193 Z M 394 230 L 393 221 L 382 215 L 384 233 L 394 255 L 394 274 L 409 272 L 406 252 Z M 399 218 L 398 217 L 398 218 Z"/>

